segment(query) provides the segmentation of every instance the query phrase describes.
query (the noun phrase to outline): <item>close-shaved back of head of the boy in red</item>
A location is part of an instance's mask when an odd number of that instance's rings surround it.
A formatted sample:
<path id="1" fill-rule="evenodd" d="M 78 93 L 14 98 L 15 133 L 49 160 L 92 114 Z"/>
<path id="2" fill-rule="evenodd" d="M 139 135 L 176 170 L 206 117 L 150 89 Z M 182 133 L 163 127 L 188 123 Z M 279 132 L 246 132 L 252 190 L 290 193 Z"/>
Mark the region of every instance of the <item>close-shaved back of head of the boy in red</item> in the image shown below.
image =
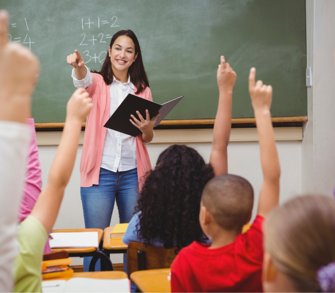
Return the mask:
<path id="1" fill-rule="evenodd" d="M 201 202 L 221 228 L 240 231 L 250 220 L 254 191 L 246 179 L 222 174 L 206 184 Z"/>

